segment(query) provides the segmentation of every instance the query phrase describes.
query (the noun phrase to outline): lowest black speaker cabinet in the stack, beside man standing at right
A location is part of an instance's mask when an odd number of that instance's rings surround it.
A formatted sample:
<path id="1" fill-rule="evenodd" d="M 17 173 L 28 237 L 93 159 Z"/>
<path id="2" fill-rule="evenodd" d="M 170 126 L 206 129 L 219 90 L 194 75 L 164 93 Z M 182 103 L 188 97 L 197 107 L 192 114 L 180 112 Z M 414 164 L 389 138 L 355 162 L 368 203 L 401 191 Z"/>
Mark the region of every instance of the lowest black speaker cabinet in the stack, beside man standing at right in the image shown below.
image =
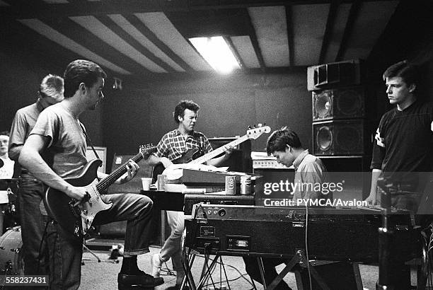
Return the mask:
<path id="1" fill-rule="evenodd" d="M 364 120 L 313 123 L 313 152 L 317 156 L 357 156 L 366 153 Z"/>

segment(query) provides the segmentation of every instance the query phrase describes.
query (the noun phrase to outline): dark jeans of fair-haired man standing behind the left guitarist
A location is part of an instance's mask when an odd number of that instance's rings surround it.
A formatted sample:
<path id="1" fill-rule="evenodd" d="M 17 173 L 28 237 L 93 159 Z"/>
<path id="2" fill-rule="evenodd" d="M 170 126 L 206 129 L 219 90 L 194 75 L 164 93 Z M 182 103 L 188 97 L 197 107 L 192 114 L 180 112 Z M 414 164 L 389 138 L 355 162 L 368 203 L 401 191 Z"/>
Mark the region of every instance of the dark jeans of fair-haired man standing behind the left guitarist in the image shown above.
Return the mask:
<path id="1" fill-rule="evenodd" d="M 33 175 L 23 173 L 19 180 L 18 208 L 23 238 L 24 272 L 27 275 L 48 273 L 47 243 L 41 246 L 45 226 L 49 221 L 40 212 L 45 186 Z M 40 261 L 40 262 L 39 262 Z"/>

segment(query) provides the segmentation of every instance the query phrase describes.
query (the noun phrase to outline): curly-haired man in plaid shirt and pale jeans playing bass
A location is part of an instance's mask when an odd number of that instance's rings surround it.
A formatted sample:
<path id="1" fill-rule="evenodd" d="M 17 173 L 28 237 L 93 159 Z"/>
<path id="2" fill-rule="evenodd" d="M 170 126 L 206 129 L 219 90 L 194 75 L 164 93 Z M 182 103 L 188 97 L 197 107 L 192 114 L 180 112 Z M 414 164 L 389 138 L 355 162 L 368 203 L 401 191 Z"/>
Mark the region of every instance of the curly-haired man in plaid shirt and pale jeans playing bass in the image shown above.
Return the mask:
<path id="1" fill-rule="evenodd" d="M 199 155 L 204 155 L 212 151 L 209 140 L 200 132 L 195 132 L 194 127 L 197 122 L 197 112 L 199 105 L 191 100 L 181 100 L 175 107 L 173 117 L 178 124 L 178 128 L 165 134 L 156 146 L 156 156 L 149 158 L 149 165 L 162 163 L 164 167 L 171 166 L 172 161 L 182 158 L 187 151 L 198 149 Z M 229 158 L 231 149 L 226 150 L 223 156 L 207 161 L 208 165 L 219 166 Z M 185 161 L 187 162 L 187 161 Z M 151 268 L 152 275 L 159 277 L 161 264 L 171 258 L 173 269 L 176 271 L 176 285 L 167 289 L 180 289 L 185 273 L 180 262 L 182 253 L 182 234 L 185 228 L 184 216 L 182 211 L 167 211 L 167 221 L 171 228 L 171 235 L 164 243 L 159 254 L 152 255 Z"/>

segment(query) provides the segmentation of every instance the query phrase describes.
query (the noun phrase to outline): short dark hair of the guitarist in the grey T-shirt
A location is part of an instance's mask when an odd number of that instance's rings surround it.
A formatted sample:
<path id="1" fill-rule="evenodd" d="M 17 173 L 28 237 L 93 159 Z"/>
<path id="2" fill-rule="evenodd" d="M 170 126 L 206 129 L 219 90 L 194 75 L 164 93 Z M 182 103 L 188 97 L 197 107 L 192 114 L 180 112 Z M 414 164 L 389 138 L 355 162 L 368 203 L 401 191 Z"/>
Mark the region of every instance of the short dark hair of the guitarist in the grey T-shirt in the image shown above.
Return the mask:
<path id="1" fill-rule="evenodd" d="M 86 87 L 90 88 L 98 81 L 98 78 L 106 77 L 107 74 L 98 64 L 76 59 L 68 64 L 64 71 L 64 98 L 71 98 L 79 89 L 80 83 L 84 83 Z"/>

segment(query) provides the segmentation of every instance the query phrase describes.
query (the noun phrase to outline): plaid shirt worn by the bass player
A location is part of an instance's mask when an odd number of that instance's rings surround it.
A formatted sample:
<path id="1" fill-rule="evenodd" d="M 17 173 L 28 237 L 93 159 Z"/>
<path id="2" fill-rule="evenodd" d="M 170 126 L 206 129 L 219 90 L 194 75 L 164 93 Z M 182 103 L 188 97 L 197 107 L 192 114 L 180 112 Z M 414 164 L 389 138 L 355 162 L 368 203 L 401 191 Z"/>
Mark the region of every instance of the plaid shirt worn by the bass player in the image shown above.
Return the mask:
<path id="1" fill-rule="evenodd" d="M 185 139 L 178 129 L 165 134 L 156 146 L 158 157 L 167 157 L 171 161 L 183 156 L 190 149 L 199 148 L 203 154 L 212 151 L 209 140 L 200 132 L 193 131 Z"/>

